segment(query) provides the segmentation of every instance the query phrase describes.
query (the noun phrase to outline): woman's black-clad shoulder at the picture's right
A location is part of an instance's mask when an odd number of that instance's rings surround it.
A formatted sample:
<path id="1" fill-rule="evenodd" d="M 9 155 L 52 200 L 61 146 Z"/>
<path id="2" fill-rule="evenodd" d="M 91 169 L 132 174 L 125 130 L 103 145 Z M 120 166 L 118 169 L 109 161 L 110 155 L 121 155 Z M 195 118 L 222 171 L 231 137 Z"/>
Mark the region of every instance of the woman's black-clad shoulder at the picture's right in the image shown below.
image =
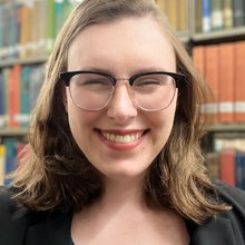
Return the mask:
<path id="1" fill-rule="evenodd" d="M 245 245 L 245 192 L 225 183 L 214 183 L 217 200 L 232 208 L 222 212 L 200 226 L 192 227 L 194 245 Z"/>

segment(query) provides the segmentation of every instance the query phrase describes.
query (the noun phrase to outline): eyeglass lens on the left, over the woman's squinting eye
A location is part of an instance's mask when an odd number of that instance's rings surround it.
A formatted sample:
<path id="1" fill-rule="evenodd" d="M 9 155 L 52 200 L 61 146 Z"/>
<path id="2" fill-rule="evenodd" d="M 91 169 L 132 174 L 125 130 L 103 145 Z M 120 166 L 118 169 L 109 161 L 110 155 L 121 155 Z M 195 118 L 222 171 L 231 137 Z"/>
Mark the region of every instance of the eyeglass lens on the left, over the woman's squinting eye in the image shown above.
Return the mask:
<path id="1" fill-rule="evenodd" d="M 98 110 L 105 107 L 112 92 L 110 79 L 97 74 L 78 74 L 70 80 L 70 95 L 78 107 Z"/>

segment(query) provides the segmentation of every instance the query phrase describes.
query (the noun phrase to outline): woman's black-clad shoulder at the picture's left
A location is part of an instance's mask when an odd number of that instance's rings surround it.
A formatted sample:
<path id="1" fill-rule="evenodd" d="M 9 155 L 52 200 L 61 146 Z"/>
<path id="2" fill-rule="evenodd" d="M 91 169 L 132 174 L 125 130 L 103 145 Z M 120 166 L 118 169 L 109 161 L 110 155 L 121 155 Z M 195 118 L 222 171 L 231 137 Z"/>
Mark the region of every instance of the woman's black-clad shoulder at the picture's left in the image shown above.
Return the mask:
<path id="1" fill-rule="evenodd" d="M 0 244 L 72 244 L 71 213 L 30 210 L 14 202 L 13 193 L 0 187 Z"/>

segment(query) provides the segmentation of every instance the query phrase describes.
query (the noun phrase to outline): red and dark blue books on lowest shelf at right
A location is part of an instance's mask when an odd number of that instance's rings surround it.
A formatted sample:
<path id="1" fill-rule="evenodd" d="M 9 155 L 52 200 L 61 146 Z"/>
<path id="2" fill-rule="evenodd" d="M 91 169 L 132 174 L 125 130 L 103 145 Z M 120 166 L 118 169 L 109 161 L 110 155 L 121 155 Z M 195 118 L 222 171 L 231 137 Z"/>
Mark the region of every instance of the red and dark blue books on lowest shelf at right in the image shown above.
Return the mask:
<path id="1" fill-rule="evenodd" d="M 245 137 L 215 140 L 216 150 L 205 155 L 209 175 L 245 189 Z"/>

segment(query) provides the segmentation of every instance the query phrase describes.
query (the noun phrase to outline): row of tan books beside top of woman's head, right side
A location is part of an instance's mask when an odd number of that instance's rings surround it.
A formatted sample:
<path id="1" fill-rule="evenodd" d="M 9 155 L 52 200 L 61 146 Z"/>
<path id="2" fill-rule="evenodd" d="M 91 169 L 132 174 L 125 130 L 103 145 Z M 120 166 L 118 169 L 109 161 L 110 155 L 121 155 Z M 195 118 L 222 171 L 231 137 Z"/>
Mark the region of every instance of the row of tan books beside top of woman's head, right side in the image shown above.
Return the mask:
<path id="1" fill-rule="evenodd" d="M 188 0 L 156 0 L 160 10 L 168 17 L 171 27 L 177 32 L 188 29 Z"/>

